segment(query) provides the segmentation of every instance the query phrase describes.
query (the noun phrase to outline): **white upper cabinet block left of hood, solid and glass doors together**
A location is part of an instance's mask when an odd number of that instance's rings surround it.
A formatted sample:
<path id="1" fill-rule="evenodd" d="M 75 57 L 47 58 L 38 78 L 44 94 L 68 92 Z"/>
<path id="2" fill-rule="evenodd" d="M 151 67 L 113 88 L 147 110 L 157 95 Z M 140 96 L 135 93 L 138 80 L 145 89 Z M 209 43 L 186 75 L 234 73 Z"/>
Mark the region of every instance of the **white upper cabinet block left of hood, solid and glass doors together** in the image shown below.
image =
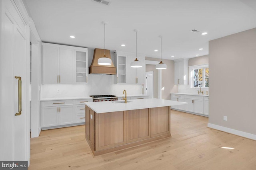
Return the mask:
<path id="1" fill-rule="evenodd" d="M 42 43 L 42 84 L 86 84 L 88 49 Z"/>

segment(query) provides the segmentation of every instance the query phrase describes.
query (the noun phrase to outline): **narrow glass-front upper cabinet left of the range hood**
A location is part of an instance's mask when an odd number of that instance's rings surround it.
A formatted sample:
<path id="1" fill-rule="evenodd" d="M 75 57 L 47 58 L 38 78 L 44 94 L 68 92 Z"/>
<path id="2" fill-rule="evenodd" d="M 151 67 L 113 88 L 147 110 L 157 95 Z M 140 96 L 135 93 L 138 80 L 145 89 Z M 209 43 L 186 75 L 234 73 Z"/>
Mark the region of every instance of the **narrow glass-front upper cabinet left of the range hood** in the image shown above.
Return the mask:
<path id="1" fill-rule="evenodd" d="M 76 47 L 75 54 L 75 84 L 88 83 L 88 49 Z"/>

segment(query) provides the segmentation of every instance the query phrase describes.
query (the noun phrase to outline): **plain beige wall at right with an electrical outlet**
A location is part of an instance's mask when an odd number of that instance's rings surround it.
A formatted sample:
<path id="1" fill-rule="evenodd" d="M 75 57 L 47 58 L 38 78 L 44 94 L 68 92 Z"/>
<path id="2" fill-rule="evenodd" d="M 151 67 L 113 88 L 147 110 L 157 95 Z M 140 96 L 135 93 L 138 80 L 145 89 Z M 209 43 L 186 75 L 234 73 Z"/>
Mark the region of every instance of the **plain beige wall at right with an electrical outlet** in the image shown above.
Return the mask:
<path id="1" fill-rule="evenodd" d="M 256 140 L 256 28 L 209 42 L 209 123 Z M 227 116 L 227 121 L 223 116 Z M 238 134 L 239 135 L 239 134 Z M 246 136 L 250 138 L 250 136 Z"/>

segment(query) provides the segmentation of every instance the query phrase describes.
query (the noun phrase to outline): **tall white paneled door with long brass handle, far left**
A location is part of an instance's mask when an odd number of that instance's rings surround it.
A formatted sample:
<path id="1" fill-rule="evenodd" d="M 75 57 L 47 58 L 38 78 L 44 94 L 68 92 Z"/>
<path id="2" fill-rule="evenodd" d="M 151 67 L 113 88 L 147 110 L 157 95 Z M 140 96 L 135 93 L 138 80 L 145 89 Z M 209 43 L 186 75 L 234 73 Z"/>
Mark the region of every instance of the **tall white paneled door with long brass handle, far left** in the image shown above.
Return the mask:
<path id="1" fill-rule="evenodd" d="M 0 160 L 29 160 L 29 27 L 11 1 L 0 6 Z"/>

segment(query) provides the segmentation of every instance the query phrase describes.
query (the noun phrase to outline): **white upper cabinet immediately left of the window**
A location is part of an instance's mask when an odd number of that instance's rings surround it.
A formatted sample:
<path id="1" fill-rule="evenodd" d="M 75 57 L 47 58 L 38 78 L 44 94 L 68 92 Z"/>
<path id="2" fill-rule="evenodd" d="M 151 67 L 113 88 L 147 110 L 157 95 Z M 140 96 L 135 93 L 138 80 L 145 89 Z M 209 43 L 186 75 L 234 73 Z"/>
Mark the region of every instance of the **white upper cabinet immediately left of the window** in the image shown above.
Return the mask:
<path id="1" fill-rule="evenodd" d="M 174 84 L 188 84 L 188 59 L 174 60 Z"/>

